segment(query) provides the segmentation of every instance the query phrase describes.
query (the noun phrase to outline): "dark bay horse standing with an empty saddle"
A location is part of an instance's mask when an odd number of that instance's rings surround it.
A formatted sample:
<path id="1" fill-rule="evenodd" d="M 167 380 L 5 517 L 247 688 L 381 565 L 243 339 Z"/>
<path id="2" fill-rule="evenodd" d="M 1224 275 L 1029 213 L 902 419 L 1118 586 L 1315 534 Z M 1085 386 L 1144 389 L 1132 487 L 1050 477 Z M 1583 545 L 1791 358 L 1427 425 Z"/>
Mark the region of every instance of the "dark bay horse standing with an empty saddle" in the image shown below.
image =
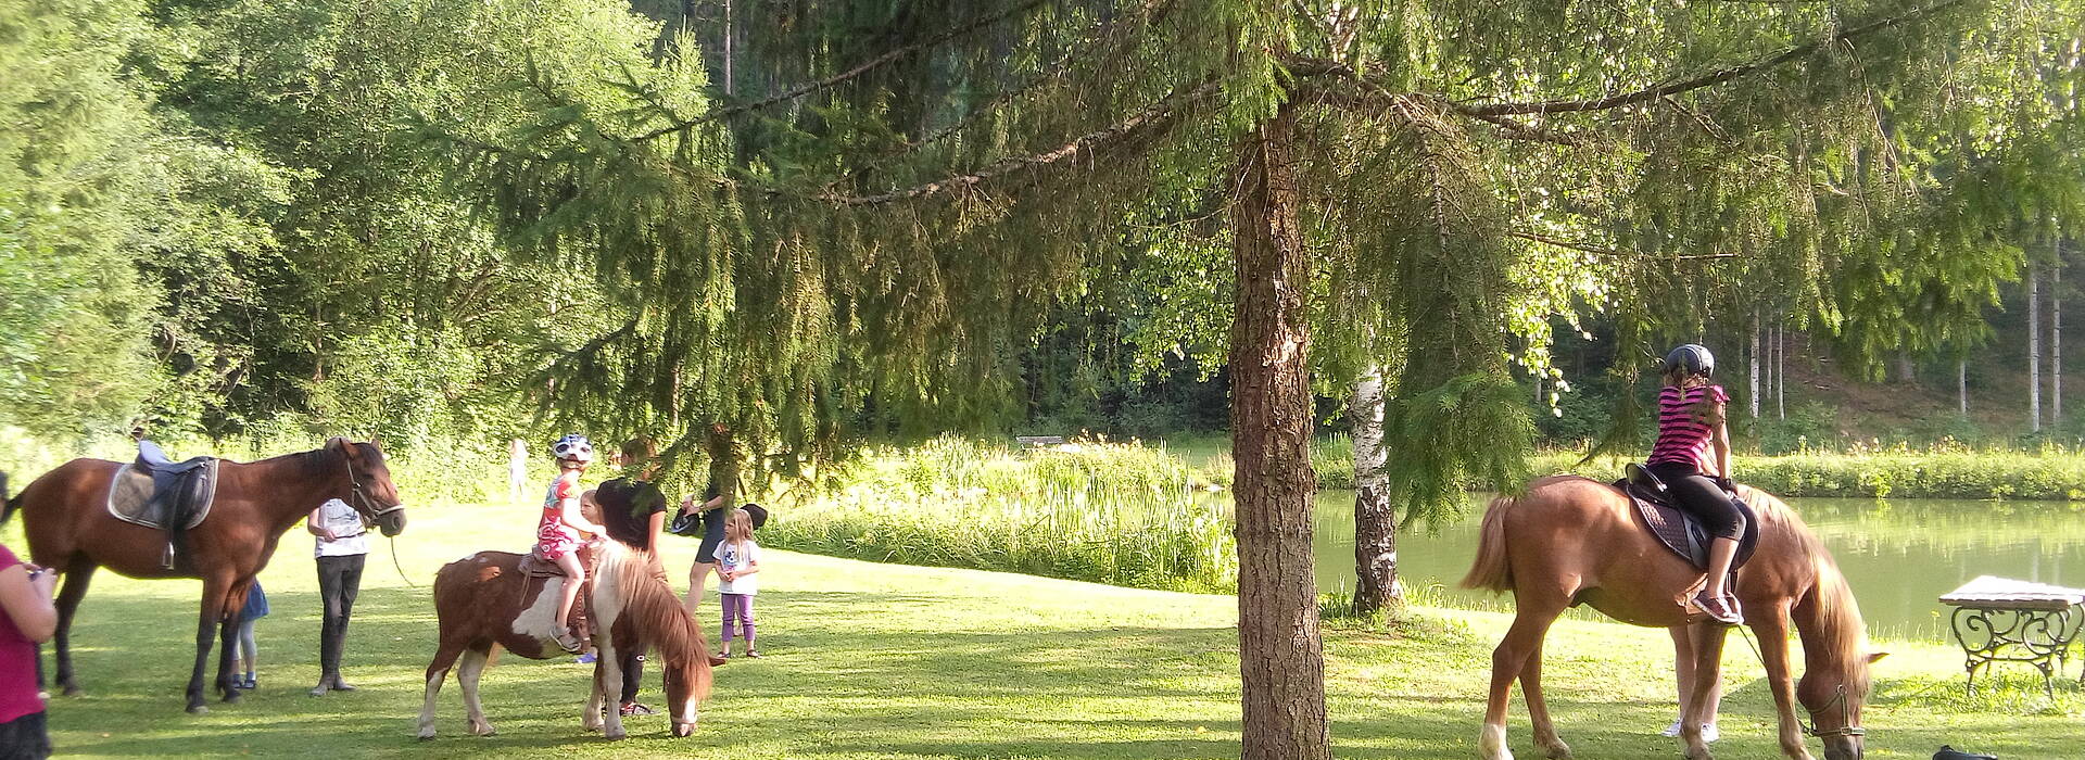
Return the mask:
<path id="1" fill-rule="evenodd" d="M 202 666 L 211 658 L 213 629 L 225 641 L 217 660 L 217 689 L 225 702 L 238 702 L 231 681 L 231 635 L 246 589 L 267 566 L 296 521 L 325 500 L 344 500 L 375 523 L 384 535 L 404 531 L 404 504 L 392 487 L 390 468 L 375 441 L 354 444 L 344 437 L 325 448 L 286 454 L 259 462 L 223 462 L 217 471 L 217 498 L 208 516 L 186 531 L 183 552 L 173 568 L 161 564 L 167 531 L 131 525 L 108 514 L 108 485 L 123 464 L 77 458 L 44 473 L 0 510 L 0 523 L 17 508 L 29 535 L 29 556 L 35 564 L 65 573 L 58 591 L 58 685 L 67 695 L 79 693 L 73 679 L 71 629 L 79 600 L 96 566 L 106 566 L 133 579 L 202 579 L 202 614 L 196 623 L 196 668 L 188 679 L 188 712 L 202 706 Z"/>

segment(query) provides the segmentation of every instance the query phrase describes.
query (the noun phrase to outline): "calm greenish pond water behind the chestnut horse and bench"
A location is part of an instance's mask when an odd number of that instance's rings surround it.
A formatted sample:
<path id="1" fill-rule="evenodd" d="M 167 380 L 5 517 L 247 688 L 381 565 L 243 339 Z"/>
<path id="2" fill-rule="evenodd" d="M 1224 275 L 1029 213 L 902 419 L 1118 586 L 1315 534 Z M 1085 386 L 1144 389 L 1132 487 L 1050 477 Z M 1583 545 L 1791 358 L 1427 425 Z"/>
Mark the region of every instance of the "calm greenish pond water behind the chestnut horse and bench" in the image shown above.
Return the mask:
<path id="1" fill-rule="evenodd" d="M 1505 610 L 1510 598 L 1455 587 L 1476 554 L 1470 516 L 1397 535 L 1399 573 L 1428 604 Z M 1822 500 L 1791 502 L 1831 548 L 1868 618 L 1868 635 L 1947 639 L 1935 598 L 1979 575 L 2085 587 L 2085 512 L 2062 502 Z M 1353 587 L 1353 491 L 1318 496 L 1318 589 Z"/>

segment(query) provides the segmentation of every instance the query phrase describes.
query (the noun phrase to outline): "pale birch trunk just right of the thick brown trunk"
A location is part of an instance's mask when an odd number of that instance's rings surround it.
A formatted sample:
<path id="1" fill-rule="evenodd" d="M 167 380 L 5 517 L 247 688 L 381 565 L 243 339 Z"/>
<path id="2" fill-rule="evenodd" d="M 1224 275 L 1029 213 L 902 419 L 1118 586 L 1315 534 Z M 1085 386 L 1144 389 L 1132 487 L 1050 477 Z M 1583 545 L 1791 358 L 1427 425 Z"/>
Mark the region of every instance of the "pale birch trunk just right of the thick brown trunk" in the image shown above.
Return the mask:
<path id="1" fill-rule="evenodd" d="M 1382 479 L 1382 371 L 1370 366 L 1353 383 L 1353 612 L 1395 608 L 1405 593 L 1397 587 L 1397 512 Z"/>

